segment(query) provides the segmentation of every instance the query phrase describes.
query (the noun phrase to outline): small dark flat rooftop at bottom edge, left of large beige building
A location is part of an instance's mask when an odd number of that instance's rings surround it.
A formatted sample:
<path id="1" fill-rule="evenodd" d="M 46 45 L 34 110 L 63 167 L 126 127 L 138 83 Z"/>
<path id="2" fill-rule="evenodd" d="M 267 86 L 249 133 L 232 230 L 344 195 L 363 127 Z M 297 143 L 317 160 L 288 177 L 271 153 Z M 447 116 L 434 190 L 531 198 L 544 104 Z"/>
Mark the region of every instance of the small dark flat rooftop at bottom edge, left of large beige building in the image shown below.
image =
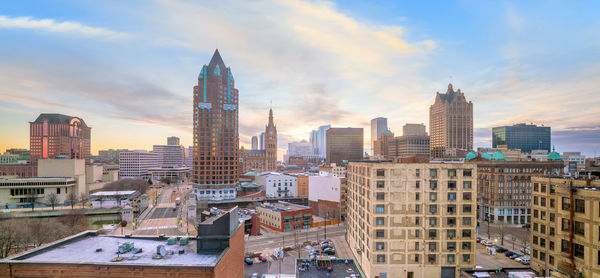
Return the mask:
<path id="1" fill-rule="evenodd" d="M 327 269 L 318 269 L 317 262 L 323 265 L 331 264 L 331 272 Z M 354 276 L 352 276 L 354 274 Z M 310 259 L 296 259 L 296 278 L 346 278 L 365 277 L 352 259 L 324 259 L 312 261 Z"/>

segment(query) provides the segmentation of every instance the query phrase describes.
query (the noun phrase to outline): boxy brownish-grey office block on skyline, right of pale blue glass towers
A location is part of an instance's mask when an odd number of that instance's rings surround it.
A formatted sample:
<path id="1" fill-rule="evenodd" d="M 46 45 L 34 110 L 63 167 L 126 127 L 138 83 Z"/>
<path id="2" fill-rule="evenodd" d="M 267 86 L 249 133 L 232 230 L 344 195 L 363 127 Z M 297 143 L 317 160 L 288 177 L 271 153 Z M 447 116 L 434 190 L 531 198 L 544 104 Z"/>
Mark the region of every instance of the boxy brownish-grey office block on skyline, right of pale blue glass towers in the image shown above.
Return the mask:
<path id="1" fill-rule="evenodd" d="M 342 165 L 344 160 L 362 159 L 364 132 L 362 128 L 327 129 L 326 163 Z"/>

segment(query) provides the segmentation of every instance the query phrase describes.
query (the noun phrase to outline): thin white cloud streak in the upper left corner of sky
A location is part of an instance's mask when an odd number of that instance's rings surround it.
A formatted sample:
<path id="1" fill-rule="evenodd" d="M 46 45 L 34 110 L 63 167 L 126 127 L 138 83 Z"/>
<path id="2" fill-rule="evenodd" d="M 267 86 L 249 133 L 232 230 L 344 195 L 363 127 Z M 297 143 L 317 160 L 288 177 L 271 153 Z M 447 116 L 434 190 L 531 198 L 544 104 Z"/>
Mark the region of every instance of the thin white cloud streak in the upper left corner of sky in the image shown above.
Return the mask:
<path id="1" fill-rule="evenodd" d="M 78 33 L 84 36 L 105 39 L 120 39 L 129 36 L 126 33 L 106 28 L 91 27 L 79 22 L 57 22 L 54 19 L 35 19 L 29 16 L 7 17 L 0 15 L 0 28 L 37 29 L 49 32 Z"/>

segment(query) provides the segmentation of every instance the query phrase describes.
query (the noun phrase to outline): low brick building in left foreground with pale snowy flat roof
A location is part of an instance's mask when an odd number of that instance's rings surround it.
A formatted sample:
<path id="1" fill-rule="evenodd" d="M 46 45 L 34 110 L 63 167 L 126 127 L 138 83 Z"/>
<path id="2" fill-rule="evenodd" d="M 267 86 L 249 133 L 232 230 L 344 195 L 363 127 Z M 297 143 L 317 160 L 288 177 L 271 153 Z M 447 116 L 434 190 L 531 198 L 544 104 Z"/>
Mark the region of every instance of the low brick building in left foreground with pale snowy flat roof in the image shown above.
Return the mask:
<path id="1" fill-rule="evenodd" d="M 196 238 L 86 231 L 0 260 L 0 277 L 244 277 L 237 207 L 198 225 Z"/>

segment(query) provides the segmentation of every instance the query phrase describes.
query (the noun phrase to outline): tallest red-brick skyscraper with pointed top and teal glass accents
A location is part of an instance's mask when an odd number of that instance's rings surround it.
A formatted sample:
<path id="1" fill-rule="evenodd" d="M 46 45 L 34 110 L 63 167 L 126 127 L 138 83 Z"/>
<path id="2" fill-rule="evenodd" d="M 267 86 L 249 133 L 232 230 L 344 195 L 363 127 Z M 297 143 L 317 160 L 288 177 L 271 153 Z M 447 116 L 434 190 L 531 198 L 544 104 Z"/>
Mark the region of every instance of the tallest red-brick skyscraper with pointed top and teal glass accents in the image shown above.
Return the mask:
<path id="1" fill-rule="evenodd" d="M 238 90 L 218 50 L 194 86 L 194 173 L 198 198 L 236 197 Z"/>

